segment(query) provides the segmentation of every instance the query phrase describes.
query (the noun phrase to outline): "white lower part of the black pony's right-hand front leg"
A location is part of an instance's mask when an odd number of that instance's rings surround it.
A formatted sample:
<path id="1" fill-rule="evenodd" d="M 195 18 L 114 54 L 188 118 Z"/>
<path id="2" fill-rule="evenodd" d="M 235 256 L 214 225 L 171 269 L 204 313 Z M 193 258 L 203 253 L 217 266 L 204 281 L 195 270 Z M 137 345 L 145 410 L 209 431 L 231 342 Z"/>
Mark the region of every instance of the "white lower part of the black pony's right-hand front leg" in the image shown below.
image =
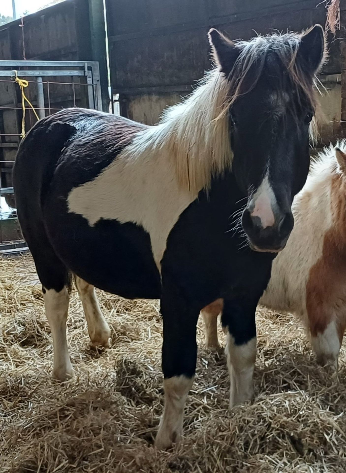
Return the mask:
<path id="1" fill-rule="evenodd" d="M 228 333 L 226 356 L 231 378 L 230 408 L 253 398 L 253 370 L 257 350 L 256 337 L 243 345 L 235 345 L 233 336 Z"/>

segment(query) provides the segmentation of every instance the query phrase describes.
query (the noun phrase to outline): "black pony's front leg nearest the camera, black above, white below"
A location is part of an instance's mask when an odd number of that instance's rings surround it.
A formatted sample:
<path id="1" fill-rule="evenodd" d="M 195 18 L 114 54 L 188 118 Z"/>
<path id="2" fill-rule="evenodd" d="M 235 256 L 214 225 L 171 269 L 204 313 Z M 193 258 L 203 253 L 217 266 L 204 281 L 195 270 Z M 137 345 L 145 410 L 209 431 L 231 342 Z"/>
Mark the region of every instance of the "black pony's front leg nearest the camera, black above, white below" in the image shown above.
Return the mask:
<path id="1" fill-rule="evenodd" d="M 199 310 L 189 310 L 187 307 L 186 302 L 178 298 L 163 296 L 161 299 L 164 413 L 155 441 L 160 449 L 171 447 L 182 437 L 184 406 L 196 371 Z"/>

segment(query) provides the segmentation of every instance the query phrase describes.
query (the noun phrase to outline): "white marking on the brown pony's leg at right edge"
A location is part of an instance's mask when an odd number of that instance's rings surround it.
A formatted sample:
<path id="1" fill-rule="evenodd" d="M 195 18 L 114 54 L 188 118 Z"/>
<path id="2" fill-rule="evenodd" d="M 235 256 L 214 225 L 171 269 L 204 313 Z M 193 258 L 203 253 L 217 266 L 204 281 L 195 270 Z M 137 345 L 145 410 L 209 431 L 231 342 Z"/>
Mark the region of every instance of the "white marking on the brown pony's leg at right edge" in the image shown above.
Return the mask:
<path id="1" fill-rule="evenodd" d="M 318 333 L 317 337 L 311 336 L 311 346 L 320 365 L 331 365 L 337 370 L 340 339 L 334 320 L 329 322 L 323 333 Z"/>

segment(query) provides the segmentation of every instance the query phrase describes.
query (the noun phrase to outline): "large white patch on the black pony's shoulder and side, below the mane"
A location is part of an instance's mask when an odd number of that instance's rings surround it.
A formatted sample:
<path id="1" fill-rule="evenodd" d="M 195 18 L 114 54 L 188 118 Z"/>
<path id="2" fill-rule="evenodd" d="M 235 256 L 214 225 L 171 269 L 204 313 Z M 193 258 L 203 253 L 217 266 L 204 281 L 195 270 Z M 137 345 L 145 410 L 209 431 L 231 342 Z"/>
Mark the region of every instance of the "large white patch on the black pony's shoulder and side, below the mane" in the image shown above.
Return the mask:
<path id="1" fill-rule="evenodd" d="M 68 206 L 90 226 L 100 219 L 142 226 L 160 269 L 167 236 L 198 192 L 181 189 L 172 159 L 164 152 L 144 147 L 140 153 L 138 143 L 127 147 L 94 180 L 72 189 Z"/>

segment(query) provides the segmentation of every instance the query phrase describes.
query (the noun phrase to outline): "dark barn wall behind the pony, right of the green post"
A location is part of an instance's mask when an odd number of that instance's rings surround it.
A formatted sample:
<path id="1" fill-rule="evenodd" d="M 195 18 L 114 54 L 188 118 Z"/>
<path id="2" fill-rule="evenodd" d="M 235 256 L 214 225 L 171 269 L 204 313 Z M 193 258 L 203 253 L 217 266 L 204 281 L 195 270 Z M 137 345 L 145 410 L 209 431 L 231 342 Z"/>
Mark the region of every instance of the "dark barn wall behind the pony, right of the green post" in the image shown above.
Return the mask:
<path id="1" fill-rule="evenodd" d="M 123 114 L 155 123 L 165 105 L 191 90 L 210 68 L 207 32 L 216 27 L 231 38 L 301 31 L 326 23 L 319 0 L 106 0 L 113 93 Z M 329 38 L 330 40 L 332 38 Z M 340 48 L 330 42 L 323 73 L 329 98 L 320 99 L 328 122 L 325 140 L 340 132 Z"/>

